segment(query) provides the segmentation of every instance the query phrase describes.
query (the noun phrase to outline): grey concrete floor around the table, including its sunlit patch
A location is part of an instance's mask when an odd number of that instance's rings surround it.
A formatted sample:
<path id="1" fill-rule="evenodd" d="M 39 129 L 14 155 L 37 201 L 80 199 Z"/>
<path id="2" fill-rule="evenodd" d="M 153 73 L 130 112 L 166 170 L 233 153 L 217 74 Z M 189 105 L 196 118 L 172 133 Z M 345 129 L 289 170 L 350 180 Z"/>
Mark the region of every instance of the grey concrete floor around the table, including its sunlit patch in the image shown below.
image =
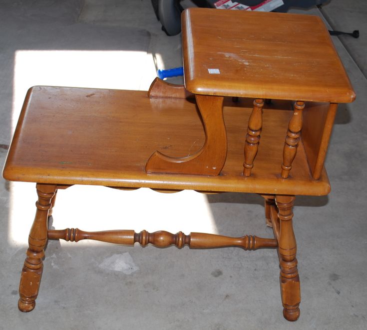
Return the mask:
<path id="1" fill-rule="evenodd" d="M 85 241 L 48 243 L 36 308 L 21 313 L 18 280 L 36 195 L 34 184 L 0 179 L 0 328 L 366 329 L 367 4 L 352 2 L 307 11 L 324 14 L 335 29 L 360 29 L 361 39 L 333 37 L 357 100 L 338 109 L 326 162 L 332 193 L 301 196 L 294 210 L 302 293 L 297 322 L 282 316 L 275 250 Z M 1 164 L 30 85 L 146 89 L 157 66 L 182 63 L 180 36 L 160 30 L 148 0 L 2 0 L 0 30 Z M 53 225 L 271 236 L 261 204 L 251 194 L 73 186 L 60 191 Z"/>

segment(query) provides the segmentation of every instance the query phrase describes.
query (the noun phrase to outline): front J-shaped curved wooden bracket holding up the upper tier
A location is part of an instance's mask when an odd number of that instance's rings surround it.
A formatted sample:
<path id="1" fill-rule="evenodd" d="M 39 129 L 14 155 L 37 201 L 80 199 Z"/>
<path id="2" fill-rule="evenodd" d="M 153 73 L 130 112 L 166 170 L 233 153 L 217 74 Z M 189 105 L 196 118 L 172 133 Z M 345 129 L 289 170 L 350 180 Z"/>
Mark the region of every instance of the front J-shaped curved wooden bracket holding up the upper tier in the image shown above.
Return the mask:
<path id="1" fill-rule="evenodd" d="M 148 173 L 218 175 L 227 157 L 227 133 L 223 119 L 223 96 L 195 95 L 205 130 L 205 142 L 195 154 L 169 157 L 155 151 L 148 159 Z"/>

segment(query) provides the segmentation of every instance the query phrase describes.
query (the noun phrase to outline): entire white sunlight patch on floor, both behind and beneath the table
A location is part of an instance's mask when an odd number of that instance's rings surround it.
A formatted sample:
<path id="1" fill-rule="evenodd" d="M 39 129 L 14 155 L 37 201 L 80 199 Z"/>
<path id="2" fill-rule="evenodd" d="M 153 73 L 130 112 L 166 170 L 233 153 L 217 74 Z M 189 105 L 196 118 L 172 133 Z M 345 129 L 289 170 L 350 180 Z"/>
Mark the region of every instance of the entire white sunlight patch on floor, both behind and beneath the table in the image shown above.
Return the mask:
<path id="1" fill-rule="evenodd" d="M 159 54 L 153 58 L 142 51 L 18 50 L 12 131 L 30 86 L 147 90 L 156 76 L 157 60 L 161 61 Z M 9 243 L 27 243 L 36 199 L 35 183 L 11 182 Z M 123 191 L 103 186 L 72 186 L 59 191 L 53 218 L 56 229 L 217 232 L 205 195 L 189 190 L 167 194 L 144 188 Z"/>

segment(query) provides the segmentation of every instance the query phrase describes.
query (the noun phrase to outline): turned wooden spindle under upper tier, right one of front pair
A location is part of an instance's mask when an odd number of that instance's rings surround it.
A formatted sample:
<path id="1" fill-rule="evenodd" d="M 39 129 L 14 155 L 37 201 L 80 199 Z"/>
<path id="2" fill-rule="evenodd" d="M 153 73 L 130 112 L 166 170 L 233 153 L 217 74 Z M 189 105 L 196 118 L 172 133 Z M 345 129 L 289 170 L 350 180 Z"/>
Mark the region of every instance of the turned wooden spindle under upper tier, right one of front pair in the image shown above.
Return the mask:
<path id="1" fill-rule="evenodd" d="M 289 121 L 286 141 L 283 149 L 282 177 L 287 178 L 292 169 L 292 162 L 297 153 L 298 143 L 300 142 L 300 134 L 302 129 L 302 110 L 305 103 L 297 101 L 294 105 L 295 109 L 291 120 Z"/>

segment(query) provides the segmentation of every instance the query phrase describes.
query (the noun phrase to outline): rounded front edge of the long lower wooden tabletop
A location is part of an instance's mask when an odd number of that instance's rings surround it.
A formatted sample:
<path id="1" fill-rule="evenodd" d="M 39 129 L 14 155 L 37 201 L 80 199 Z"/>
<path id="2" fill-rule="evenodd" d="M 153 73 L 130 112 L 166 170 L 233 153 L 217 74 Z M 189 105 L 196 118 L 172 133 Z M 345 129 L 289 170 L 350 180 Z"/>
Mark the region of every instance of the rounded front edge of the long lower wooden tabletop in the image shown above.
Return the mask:
<path id="1" fill-rule="evenodd" d="M 328 174 L 323 168 L 322 176 L 319 180 L 295 180 L 292 177 L 277 178 L 269 180 L 268 189 L 265 190 L 263 185 L 257 185 L 258 178 L 255 176 L 243 177 L 244 183 L 238 184 L 238 180 L 227 180 L 223 177 L 223 183 L 218 186 L 217 183 L 211 182 L 211 177 L 206 175 L 188 175 L 188 174 L 147 174 L 145 179 L 137 179 L 134 175 L 125 174 L 124 178 L 91 178 L 84 175 L 81 177 L 67 177 L 54 175 L 29 175 L 22 174 L 21 168 L 8 168 L 5 164 L 2 175 L 10 181 L 34 182 L 45 184 L 59 185 L 103 185 L 116 188 L 151 188 L 151 189 L 168 189 L 168 190 L 197 190 L 208 192 L 245 192 L 245 193 L 265 193 L 265 194 L 294 194 L 294 195 L 327 195 L 331 191 Z M 205 177 L 205 182 L 203 181 Z M 220 176 L 220 175 L 219 175 Z M 169 180 L 167 180 L 169 177 Z M 165 179 L 166 178 L 166 179 Z M 287 186 L 292 184 L 292 188 Z M 282 185 L 284 185 L 282 187 Z M 221 189 L 218 189 L 218 188 Z M 307 191 L 305 193 L 305 191 Z"/>

